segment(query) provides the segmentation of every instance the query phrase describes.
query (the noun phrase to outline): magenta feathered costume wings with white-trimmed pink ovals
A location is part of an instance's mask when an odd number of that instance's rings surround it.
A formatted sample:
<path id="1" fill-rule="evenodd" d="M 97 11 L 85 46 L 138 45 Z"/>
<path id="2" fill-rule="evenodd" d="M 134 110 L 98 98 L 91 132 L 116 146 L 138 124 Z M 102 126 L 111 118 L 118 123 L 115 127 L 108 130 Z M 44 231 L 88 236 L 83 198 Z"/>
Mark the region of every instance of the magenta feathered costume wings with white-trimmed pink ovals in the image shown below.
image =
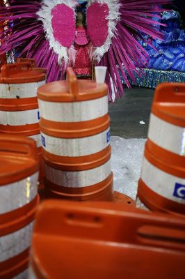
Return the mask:
<path id="1" fill-rule="evenodd" d="M 62 79 L 69 63 L 75 61 L 74 40 L 77 1 L 9 1 L 1 8 L 0 54 L 14 50 L 18 56 L 35 58 L 47 68 L 47 82 Z M 87 33 L 93 65 L 107 66 L 109 97 L 123 93 L 120 75 L 130 87 L 124 69 L 134 80 L 137 68 L 147 65 L 148 54 L 138 43 L 142 34 L 162 39 L 156 28 L 168 0 L 91 0 L 87 9 Z M 144 39 L 143 39 L 144 40 Z M 75 62 L 74 62 L 75 63 Z M 124 66 L 124 69 L 123 69 Z"/>

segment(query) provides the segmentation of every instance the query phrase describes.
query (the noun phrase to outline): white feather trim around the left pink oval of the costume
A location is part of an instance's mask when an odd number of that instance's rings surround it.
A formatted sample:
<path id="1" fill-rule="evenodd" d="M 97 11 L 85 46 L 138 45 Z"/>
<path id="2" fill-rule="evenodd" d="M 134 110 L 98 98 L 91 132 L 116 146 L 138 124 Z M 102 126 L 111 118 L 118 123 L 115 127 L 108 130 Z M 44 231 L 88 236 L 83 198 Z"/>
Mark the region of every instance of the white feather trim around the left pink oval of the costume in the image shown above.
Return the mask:
<path id="1" fill-rule="evenodd" d="M 77 1 L 75 0 L 43 0 L 42 7 L 38 11 L 37 15 L 39 16 L 39 20 L 42 20 L 47 40 L 49 41 L 49 47 L 54 50 L 56 54 L 58 54 L 58 64 L 61 65 L 62 60 L 64 59 L 65 65 L 67 65 L 69 61 L 69 57 L 67 55 L 67 47 L 63 47 L 57 40 L 54 38 L 54 31 L 51 25 L 51 10 L 58 4 L 65 4 L 66 6 L 75 9 L 77 6 Z"/>

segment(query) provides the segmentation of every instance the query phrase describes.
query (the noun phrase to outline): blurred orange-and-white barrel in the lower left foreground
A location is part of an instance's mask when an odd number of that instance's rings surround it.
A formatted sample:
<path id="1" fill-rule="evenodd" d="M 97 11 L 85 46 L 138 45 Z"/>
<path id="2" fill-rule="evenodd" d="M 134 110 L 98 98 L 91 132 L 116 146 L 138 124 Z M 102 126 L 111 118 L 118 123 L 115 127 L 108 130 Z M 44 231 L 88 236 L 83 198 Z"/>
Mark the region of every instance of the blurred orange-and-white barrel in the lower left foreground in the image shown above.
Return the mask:
<path id="1" fill-rule="evenodd" d="M 35 142 L 26 137 L 0 135 L 0 161 L 0 278 L 27 278 L 39 201 Z"/>

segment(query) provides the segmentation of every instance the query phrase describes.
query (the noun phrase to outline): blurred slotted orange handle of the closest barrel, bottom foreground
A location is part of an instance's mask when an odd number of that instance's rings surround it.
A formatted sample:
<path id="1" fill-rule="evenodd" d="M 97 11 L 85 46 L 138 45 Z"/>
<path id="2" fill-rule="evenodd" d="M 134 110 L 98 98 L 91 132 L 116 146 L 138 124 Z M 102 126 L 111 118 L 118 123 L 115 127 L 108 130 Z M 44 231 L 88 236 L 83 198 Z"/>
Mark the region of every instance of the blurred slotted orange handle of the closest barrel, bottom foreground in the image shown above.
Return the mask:
<path id="1" fill-rule="evenodd" d="M 53 217 L 55 216 L 55 218 Z M 60 223 L 58 223 L 60 218 Z M 42 222 L 47 220 L 47 222 Z M 118 228 L 117 234 L 113 229 Z M 125 227 L 127 229 L 125 230 Z M 92 202 L 79 204 L 49 200 L 42 203 L 35 232 L 55 234 L 71 239 L 82 237 L 101 241 L 185 249 L 183 218 L 150 213 L 129 206 Z"/>

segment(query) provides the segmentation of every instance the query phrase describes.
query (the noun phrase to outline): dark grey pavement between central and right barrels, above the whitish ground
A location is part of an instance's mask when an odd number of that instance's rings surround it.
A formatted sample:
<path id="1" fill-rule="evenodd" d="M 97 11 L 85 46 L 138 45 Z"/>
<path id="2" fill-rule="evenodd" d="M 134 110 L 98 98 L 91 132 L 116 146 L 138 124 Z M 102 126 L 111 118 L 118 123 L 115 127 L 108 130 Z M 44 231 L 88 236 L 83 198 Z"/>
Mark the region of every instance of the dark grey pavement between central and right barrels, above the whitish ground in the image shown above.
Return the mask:
<path id="1" fill-rule="evenodd" d="M 141 87 L 125 90 L 125 96 L 109 105 L 111 135 L 146 138 L 154 90 Z M 145 125 L 141 125 L 144 121 Z"/>

